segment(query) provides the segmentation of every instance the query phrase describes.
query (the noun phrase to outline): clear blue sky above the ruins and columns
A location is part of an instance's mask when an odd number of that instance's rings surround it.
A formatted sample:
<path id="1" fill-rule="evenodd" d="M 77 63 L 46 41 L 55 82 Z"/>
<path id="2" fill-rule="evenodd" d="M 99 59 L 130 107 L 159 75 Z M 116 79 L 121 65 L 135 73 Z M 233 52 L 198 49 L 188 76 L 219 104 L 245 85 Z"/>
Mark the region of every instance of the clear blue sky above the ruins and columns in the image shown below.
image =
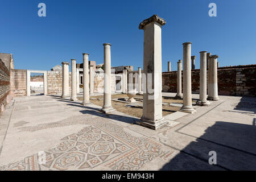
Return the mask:
<path id="1" fill-rule="evenodd" d="M 46 3 L 46 17 L 38 4 Z M 217 17 L 208 5 L 217 5 Z M 61 61 L 89 53 L 89 60 L 103 62 L 102 43 L 112 44 L 112 66 L 143 68 L 142 20 L 158 14 L 162 27 L 162 65 L 172 70 L 183 59 L 183 42 L 192 42 L 196 68 L 200 51 L 219 56 L 221 66 L 256 64 L 255 0 L 129 0 L 63 1 L 0 0 L 0 52 L 13 53 L 15 69 L 49 70 Z"/>

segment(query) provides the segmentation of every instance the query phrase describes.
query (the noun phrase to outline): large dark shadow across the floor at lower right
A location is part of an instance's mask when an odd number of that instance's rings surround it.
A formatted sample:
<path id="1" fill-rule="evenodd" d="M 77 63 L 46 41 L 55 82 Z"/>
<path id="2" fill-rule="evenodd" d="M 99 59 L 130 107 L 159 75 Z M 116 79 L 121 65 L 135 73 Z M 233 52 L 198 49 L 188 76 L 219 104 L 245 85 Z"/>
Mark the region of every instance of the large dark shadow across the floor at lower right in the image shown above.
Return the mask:
<path id="1" fill-rule="evenodd" d="M 253 119 L 255 123 L 255 118 Z M 183 133 L 181 133 L 183 134 Z M 187 134 L 184 134 L 187 135 Z M 192 137 L 191 135 L 188 135 Z M 210 151 L 217 164 L 210 165 Z M 256 126 L 217 121 L 160 170 L 256 170 Z"/>

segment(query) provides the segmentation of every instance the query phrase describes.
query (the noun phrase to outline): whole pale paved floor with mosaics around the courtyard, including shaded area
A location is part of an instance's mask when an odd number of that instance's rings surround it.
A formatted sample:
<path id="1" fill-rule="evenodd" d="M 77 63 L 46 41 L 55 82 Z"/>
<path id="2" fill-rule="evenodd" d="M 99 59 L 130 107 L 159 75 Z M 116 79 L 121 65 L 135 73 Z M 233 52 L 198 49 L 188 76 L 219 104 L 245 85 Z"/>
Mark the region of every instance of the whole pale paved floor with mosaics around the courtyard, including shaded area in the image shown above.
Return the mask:
<path id="1" fill-rule="evenodd" d="M 0 170 L 255 170 L 255 108 L 254 97 L 220 96 L 154 131 L 80 101 L 16 97 L 0 118 Z"/>

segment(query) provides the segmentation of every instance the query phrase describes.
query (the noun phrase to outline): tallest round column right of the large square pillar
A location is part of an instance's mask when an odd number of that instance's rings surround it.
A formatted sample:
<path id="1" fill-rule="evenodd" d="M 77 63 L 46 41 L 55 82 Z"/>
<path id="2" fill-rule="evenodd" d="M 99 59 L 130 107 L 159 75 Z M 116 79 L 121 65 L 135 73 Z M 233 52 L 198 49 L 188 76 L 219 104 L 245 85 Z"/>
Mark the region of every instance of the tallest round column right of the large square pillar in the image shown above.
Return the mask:
<path id="1" fill-rule="evenodd" d="M 183 43 L 183 106 L 180 111 L 195 113 L 191 90 L 191 42 Z"/>

